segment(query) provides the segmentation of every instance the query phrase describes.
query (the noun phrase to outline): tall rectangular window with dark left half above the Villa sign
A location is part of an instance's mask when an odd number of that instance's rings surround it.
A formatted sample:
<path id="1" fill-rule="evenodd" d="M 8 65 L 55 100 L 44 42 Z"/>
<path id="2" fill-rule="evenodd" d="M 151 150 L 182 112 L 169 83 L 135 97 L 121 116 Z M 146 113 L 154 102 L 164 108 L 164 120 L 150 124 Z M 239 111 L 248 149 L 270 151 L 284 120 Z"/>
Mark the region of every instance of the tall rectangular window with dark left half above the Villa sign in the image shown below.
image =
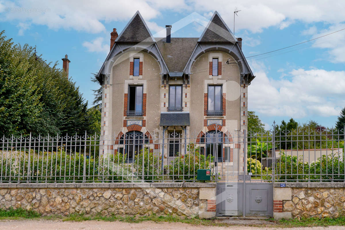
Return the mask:
<path id="1" fill-rule="evenodd" d="M 127 116 L 142 116 L 142 86 L 128 86 Z"/>

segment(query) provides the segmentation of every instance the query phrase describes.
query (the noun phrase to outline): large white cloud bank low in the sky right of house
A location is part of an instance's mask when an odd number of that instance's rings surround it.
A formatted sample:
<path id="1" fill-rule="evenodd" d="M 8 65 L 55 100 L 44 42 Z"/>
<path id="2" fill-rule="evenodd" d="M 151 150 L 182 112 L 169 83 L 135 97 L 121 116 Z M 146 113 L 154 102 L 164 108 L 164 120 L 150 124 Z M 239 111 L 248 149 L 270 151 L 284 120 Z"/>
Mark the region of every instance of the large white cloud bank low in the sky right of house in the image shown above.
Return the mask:
<path id="1" fill-rule="evenodd" d="M 248 87 L 250 110 L 267 116 L 338 116 L 345 105 L 345 71 L 295 69 L 290 80 L 266 75 L 261 63 L 253 65 L 256 78 Z"/>

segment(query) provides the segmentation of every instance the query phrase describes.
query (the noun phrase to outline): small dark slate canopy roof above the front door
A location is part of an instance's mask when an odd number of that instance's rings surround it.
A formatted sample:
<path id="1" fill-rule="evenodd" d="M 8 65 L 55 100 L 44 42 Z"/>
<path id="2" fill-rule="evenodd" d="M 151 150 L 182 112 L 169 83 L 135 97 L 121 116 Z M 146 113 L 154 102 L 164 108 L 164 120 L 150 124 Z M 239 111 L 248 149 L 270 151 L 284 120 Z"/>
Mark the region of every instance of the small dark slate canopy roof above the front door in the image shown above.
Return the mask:
<path id="1" fill-rule="evenodd" d="M 186 113 L 186 112 L 160 113 L 159 126 L 190 126 L 189 113 Z"/>

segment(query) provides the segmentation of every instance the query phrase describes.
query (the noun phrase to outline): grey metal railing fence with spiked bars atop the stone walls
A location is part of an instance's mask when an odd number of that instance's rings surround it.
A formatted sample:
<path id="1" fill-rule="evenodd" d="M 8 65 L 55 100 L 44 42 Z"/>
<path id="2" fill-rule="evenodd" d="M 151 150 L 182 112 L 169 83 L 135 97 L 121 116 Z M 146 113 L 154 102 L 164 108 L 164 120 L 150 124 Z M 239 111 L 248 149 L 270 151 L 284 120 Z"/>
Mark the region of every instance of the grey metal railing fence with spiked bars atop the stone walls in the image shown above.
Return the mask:
<path id="1" fill-rule="evenodd" d="M 2 137 L 1 182 L 344 181 L 344 130 Z M 247 176 L 244 176 L 247 175 Z"/>

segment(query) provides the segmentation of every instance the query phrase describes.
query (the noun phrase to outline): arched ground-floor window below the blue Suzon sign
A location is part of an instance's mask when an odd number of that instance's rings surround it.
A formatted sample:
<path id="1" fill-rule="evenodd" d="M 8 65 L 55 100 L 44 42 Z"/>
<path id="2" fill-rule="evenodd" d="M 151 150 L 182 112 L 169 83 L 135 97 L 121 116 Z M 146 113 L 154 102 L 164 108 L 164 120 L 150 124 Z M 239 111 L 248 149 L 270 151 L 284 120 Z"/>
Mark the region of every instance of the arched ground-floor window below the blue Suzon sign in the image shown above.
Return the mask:
<path id="1" fill-rule="evenodd" d="M 206 156 L 210 155 L 215 158 L 215 161 L 223 161 L 223 132 L 208 131 L 205 137 L 206 142 Z"/>

